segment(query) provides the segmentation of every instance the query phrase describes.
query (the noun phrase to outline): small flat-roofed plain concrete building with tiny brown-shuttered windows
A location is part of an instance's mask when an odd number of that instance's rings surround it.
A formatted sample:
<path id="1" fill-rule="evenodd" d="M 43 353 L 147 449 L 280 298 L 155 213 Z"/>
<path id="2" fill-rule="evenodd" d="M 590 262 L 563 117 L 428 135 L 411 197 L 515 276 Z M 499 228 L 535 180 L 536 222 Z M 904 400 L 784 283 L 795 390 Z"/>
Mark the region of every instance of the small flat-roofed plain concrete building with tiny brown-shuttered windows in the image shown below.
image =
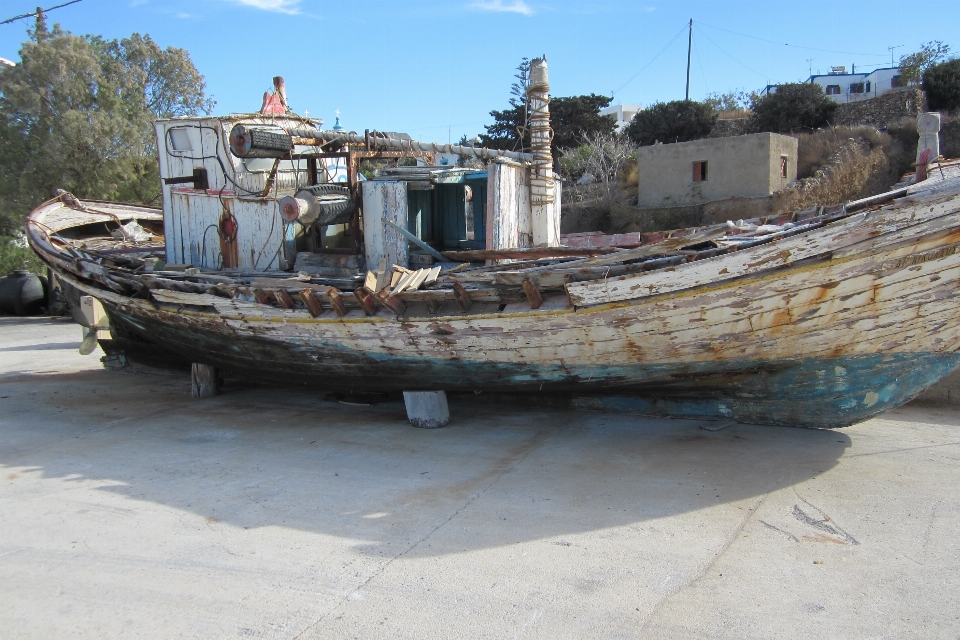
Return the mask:
<path id="1" fill-rule="evenodd" d="M 776 133 L 655 144 L 637 150 L 641 207 L 768 196 L 797 179 L 797 139 Z"/>

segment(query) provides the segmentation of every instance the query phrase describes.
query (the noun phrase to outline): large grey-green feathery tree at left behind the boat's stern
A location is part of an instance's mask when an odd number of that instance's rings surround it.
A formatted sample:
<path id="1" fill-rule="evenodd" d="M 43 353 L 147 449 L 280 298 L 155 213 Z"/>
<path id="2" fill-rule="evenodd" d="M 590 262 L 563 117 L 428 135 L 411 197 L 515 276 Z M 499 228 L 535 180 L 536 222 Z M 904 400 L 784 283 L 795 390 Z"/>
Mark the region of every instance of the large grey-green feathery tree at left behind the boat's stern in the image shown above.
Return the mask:
<path id="1" fill-rule="evenodd" d="M 37 21 L 21 62 L 0 71 L 0 234 L 62 188 L 80 198 L 156 204 L 152 120 L 209 113 L 186 51 L 149 36 L 75 36 Z"/>

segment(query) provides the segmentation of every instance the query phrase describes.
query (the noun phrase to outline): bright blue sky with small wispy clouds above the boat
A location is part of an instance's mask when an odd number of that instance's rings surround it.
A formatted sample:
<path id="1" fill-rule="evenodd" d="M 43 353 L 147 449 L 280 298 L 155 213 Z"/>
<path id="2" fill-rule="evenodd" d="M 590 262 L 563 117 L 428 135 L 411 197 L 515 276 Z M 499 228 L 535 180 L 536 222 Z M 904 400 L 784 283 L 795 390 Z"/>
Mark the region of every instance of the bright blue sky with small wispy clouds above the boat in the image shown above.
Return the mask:
<path id="1" fill-rule="evenodd" d="M 0 0 L 0 20 L 65 1 Z M 49 15 L 77 34 L 187 49 L 217 112 L 256 110 L 282 75 L 299 113 L 332 125 L 339 109 L 348 129 L 439 142 L 506 107 L 523 56 L 546 54 L 553 95 L 683 98 L 690 18 L 694 99 L 888 66 L 891 46 L 898 59 L 929 40 L 960 54 L 957 0 L 83 0 Z M 18 59 L 30 24 L 0 25 L 0 57 Z"/>

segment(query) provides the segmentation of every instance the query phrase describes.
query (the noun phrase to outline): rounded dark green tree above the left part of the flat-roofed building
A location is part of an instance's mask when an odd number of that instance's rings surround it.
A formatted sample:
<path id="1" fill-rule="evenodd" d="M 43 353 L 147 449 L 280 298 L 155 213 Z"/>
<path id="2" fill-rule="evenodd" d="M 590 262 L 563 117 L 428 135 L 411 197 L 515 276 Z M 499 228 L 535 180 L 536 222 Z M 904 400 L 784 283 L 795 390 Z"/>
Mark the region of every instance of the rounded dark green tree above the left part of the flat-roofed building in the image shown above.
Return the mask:
<path id="1" fill-rule="evenodd" d="M 713 107 L 694 100 L 657 102 L 639 111 L 624 130 L 640 146 L 687 142 L 710 135 L 717 122 Z"/>

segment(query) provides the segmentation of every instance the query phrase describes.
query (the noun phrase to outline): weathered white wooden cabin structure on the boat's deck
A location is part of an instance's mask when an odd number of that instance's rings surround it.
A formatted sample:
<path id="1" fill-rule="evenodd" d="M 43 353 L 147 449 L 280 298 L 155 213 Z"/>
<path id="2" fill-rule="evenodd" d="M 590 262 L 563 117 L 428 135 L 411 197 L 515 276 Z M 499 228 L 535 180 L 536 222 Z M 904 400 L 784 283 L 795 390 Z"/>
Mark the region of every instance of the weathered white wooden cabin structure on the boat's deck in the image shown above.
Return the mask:
<path id="1" fill-rule="evenodd" d="M 289 112 L 158 120 L 167 262 L 356 278 L 384 259 L 419 268 L 441 252 L 559 246 L 560 184 L 537 180 L 532 154 L 321 124 Z M 486 168 L 436 165 L 437 153 Z M 360 173 L 365 161 L 377 175 Z"/>

